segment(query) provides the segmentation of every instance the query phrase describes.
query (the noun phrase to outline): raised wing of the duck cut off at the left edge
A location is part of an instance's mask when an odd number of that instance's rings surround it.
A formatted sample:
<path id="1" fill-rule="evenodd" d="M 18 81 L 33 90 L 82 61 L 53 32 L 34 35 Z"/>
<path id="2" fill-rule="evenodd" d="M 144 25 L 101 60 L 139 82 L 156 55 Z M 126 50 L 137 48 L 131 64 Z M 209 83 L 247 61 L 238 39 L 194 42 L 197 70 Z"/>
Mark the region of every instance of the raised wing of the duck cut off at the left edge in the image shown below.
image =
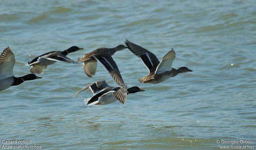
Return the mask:
<path id="1" fill-rule="evenodd" d="M 15 56 L 9 46 L 4 49 L 0 56 L 0 80 L 12 77 L 15 64 Z"/>

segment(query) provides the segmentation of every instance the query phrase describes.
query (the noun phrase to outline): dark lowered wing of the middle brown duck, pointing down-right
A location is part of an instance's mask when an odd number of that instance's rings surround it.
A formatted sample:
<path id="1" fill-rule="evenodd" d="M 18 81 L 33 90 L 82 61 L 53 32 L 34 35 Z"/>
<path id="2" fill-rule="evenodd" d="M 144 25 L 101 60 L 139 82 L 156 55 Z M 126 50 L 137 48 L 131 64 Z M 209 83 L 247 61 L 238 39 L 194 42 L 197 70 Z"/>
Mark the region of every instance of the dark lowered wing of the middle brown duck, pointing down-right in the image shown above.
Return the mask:
<path id="1" fill-rule="evenodd" d="M 101 64 L 103 64 L 103 66 L 107 69 L 108 73 L 112 76 L 117 84 L 124 84 L 124 80 L 122 79 L 116 62 L 113 60 L 110 54 L 105 53 L 102 55 L 94 55 L 93 57 L 100 61 Z"/>

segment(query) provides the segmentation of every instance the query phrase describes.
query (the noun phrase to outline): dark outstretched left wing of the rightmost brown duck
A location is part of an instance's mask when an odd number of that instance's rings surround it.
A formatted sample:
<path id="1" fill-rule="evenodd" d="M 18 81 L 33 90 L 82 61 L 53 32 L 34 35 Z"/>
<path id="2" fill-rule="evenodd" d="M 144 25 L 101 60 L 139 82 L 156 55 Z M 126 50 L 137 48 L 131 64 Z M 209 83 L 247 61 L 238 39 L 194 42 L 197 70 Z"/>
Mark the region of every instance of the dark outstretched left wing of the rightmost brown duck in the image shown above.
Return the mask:
<path id="1" fill-rule="evenodd" d="M 159 64 L 159 60 L 157 59 L 156 55 L 128 40 L 125 41 L 125 44 L 134 55 L 138 56 L 142 60 L 142 62 L 148 68 L 149 73 L 156 70 L 156 67 Z"/>

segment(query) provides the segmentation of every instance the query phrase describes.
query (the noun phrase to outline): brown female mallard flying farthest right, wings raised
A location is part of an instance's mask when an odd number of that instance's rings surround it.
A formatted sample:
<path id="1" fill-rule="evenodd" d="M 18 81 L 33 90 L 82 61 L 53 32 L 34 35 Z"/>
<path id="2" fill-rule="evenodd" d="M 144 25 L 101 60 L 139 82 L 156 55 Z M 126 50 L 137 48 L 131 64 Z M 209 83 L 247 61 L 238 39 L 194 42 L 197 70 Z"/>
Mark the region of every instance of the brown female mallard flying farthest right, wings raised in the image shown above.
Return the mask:
<path id="1" fill-rule="evenodd" d="M 180 67 L 179 69 L 172 68 L 172 62 L 175 58 L 175 51 L 169 51 L 159 62 L 156 55 L 128 40 L 125 41 L 128 49 L 138 56 L 148 68 L 149 74 L 146 77 L 139 78 L 140 83 L 157 84 L 163 82 L 179 73 L 189 72 L 187 67 Z"/>

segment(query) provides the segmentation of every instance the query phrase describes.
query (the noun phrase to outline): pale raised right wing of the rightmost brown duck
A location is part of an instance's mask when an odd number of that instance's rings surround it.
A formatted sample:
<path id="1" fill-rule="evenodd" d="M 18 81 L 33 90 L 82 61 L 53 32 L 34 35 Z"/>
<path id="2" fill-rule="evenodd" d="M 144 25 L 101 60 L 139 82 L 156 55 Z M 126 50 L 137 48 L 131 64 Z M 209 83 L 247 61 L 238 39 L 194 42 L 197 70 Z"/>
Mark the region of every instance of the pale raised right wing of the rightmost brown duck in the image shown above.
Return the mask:
<path id="1" fill-rule="evenodd" d="M 161 63 L 157 66 L 155 74 L 163 73 L 165 71 L 172 70 L 172 62 L 175 59 L 175 51 L 172 49 L 161 60 Z"/>

